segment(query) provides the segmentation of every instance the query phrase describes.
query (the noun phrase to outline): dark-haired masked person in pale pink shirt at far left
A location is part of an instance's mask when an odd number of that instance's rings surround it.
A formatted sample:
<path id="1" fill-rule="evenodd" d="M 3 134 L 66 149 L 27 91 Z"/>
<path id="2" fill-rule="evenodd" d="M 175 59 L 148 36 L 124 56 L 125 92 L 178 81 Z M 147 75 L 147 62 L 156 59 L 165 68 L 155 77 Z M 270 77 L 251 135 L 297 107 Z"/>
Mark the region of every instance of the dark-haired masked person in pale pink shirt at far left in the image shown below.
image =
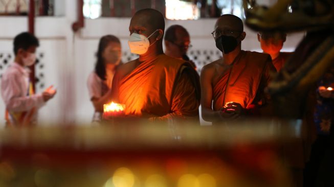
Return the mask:
<path id="1" fill-rule="evenodd" d="M 6 105 L 7 126 L 36 125 L 38 109 L 56 94 L 52 86 L 40 94 L 34 93 L 28 66 L 35 63 L 38 46 L 38 39 L 28 32 L 20 33 L 14 38 L 15 60 L 1 79 L 1 95 Z"/>

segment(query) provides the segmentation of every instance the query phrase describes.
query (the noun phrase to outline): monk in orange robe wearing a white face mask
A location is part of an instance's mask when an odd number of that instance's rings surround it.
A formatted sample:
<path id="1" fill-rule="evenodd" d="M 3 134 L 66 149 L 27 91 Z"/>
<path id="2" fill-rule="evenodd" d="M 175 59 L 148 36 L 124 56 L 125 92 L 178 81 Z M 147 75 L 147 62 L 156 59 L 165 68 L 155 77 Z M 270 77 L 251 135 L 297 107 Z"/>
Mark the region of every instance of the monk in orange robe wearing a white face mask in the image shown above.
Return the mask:
<path id="1" fill-rule="evenodd" d="M 143 9 L 131 18 L 128 44 L 139 58 L 117 69 L 112 101 L 124 104 L 127 116 L 198 121 L 199 77 L 189 63 L 164 54 L 164 29 L 157 10 Z"/>

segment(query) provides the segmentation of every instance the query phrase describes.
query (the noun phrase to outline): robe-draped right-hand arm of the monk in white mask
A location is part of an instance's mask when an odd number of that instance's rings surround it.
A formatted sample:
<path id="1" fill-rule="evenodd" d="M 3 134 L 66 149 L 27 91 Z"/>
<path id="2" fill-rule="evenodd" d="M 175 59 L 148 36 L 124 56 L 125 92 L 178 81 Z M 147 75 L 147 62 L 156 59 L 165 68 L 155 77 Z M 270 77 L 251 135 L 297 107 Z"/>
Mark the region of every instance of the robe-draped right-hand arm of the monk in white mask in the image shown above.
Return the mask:
<path id="1" fill-rule="evenodd" d="M 198 79 L 197 79 L 198 81 Z M 171 112 L 161 117 L 150 118 L 151 121 L 166 121 L 174 118 L 198 116 L 199 100 L 196 99 L 196 88 L 187 71 L 184 71 L 177 81 L 173 91 Z"/>

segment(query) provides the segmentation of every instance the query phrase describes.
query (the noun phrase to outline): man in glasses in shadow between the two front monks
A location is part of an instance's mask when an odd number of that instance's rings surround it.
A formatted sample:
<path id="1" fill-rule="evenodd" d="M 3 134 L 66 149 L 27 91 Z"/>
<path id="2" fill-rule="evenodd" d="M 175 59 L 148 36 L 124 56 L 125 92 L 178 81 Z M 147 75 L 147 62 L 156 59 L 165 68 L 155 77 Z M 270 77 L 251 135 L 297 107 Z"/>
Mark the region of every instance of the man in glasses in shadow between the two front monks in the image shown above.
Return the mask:
<path id="1" fill-rule="evenodd" d="M 187 51 L 191 47 L 188 31 L 180 25 L 170 26 L 165 33 L 165 54 L 190 63 L 196 69 L 196 64 L 189 59 Z"/>

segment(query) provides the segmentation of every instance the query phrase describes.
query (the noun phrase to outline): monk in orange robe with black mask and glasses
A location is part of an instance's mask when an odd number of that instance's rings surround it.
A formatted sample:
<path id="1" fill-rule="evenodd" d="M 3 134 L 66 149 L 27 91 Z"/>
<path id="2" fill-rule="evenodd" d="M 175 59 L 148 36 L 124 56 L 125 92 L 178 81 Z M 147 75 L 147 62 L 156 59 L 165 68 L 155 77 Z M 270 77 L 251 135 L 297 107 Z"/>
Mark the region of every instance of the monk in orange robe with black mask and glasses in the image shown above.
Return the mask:
<path id="1" fill-rule="evenodd" d="M 212 33 L 223 57 L 201 72 L 202 116 L 210 122 L 260 114 L 269 101 L 264 88 L 276 72 L 268 54 L 242 51 L 246 37 L 240 18 L 221 15 Z"/>

